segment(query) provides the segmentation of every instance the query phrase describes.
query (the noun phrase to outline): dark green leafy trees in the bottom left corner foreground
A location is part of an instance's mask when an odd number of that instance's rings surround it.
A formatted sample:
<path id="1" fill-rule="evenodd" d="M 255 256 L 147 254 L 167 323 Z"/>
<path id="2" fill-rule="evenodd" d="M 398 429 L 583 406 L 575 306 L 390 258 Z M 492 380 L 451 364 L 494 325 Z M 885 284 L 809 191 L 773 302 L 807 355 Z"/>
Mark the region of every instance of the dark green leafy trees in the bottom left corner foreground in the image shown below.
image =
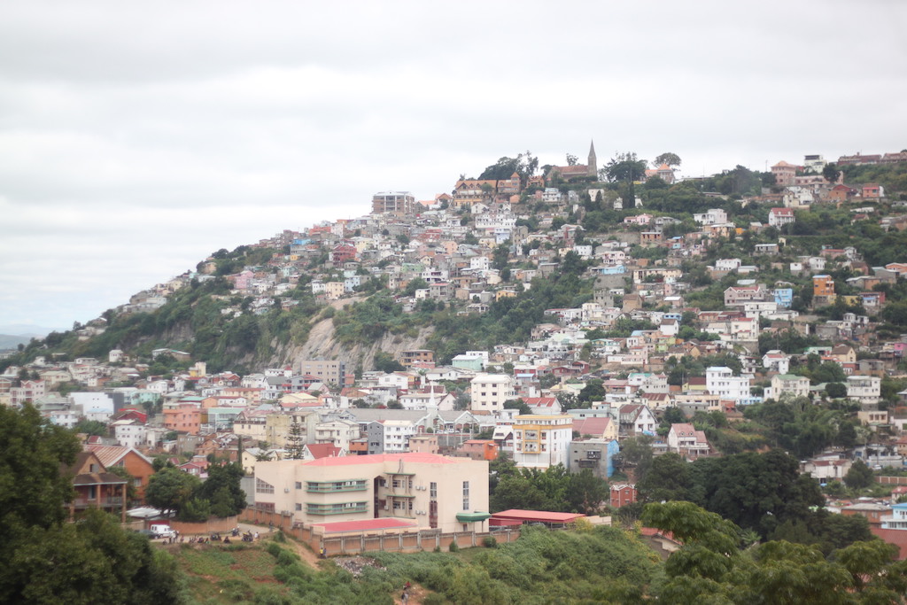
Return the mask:
<path id="1" fill-rule="evenodd" d="M 147 538 L 111 515 L 65 521 L 75 435 L 32 405 L 0 405 L 0 602 L 180 603 L 181 574 Z"/>

